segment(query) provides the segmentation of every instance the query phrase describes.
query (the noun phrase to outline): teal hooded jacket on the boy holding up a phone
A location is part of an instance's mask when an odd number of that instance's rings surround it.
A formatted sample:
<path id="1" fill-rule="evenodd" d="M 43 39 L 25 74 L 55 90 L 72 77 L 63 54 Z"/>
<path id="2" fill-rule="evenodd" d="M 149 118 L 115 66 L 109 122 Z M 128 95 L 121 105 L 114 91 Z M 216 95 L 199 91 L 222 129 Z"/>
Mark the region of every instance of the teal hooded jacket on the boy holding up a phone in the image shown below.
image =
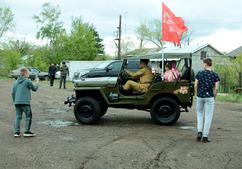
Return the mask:
<path id="1" fill-rule="evenodd" d="M 30 79 L 24 76 L 18 77 L 13 85 L 12 98 L 14 104 L 25 104 L 30 105 L 31 94 L 30 90 L 37 91 L 39 83 L 34 85 Z"/>

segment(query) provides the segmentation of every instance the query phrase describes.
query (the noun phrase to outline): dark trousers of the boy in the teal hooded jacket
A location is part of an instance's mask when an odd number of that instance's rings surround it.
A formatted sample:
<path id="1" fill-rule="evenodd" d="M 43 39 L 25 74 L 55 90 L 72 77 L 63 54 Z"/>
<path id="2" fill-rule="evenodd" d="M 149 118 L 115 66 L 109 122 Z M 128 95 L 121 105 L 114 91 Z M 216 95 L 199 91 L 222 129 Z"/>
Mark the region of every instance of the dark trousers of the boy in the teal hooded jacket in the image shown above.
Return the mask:
<path id="1" fill-rule="evenodd" d="M 30 130 L 32 123 L 32 111 L 30 105 L 15 105 L 16 119 L 14 125 L 14 131 L 20 132 L 20 123 L 22 120 L 22 114 L 25 113 L 25 132 Z"/>

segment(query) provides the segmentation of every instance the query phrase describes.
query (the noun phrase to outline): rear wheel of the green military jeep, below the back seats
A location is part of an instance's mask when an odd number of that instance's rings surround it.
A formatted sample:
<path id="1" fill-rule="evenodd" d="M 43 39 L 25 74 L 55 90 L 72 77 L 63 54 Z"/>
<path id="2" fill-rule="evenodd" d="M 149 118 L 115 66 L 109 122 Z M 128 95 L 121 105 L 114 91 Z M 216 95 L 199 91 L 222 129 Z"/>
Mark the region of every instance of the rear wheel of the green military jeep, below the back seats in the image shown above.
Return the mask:
<path id="1" fill-rule="evenodd" d="M 180 108 L 174 99 L 162 97 L 151 105 L 150 115 L 156 123 L 170 125 L 179 119 Z"/>

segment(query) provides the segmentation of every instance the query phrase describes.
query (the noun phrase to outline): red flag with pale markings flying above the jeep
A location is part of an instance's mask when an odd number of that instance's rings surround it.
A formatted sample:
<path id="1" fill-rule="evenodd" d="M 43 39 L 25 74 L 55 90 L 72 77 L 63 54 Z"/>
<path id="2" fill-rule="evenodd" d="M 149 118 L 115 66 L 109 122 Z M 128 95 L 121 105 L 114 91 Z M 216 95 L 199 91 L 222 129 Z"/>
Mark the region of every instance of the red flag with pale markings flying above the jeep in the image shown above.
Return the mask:
<path id="1" fill-rule="evenodd" d="M 162 40 L 180 45 L 180 37 L 188 28 L 181 17 L 176 17 L 162 2 Z"/>

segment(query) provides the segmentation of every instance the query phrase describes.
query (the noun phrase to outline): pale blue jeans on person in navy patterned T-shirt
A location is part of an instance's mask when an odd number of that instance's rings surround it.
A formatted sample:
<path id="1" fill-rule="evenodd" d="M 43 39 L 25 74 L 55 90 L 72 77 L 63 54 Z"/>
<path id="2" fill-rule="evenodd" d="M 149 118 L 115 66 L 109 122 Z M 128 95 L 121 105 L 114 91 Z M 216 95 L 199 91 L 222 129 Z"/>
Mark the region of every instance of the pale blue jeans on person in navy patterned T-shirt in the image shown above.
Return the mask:
<path id="1" fill-rule="evenodd" d="M 205 108 L 205 112 L 204 112 Z M 210 127 L 213 119 L 214 111 L 214 97 L 201 98 L 197 97 L 197 130 L 203 131 L 203 137 L 207 137 L 210 131 Z M 203 117 L 205 115 L 204 127 Z"/>

